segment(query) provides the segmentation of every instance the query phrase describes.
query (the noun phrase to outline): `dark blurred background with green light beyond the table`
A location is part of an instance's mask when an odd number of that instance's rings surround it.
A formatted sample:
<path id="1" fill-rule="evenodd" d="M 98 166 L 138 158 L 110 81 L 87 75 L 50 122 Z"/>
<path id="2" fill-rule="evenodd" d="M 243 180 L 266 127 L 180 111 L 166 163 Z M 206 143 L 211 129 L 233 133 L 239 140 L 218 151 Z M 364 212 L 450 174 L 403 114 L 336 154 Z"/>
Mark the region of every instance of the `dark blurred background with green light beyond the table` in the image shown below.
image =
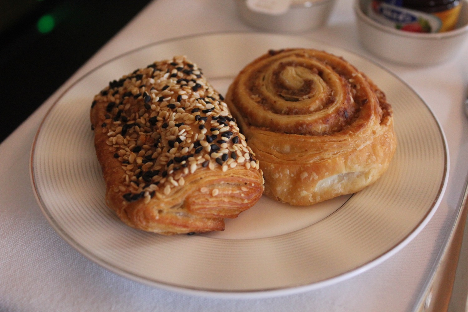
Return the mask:
<path id="1" fill-rule="evenodd" d="M 0 0 L 0 142 L 150 0 Z"/>

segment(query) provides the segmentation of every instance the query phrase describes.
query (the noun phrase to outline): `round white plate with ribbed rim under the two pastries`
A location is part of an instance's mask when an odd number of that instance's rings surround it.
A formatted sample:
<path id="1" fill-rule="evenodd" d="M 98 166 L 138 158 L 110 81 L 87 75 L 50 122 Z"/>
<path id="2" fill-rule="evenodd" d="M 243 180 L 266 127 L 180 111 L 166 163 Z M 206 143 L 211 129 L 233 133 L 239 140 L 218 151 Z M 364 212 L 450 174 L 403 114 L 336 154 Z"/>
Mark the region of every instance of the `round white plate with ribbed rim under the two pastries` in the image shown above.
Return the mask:
<path id="1" fill-rule="evenodd" d="M 120 222 L 104 203 L 89 109 L 106 84 L 154 60 L 186 55 L 221 94 L 269 49 L 304 47 L 343 56 L 385 91 L 398 148 L 372 186 L 311 207 L 263 197 L 226 230 L 165 237 Z M 31 180 L 51 226 L 112 272 L 157 287 L 223 297 L 267 297 L 336 283 L 384 261 L 434 214 L 446 187 L 444 134 L 421 98 L 380 66 L 302 37 L 225 33 L 180 38 L 111 59 L 76 81 L 44 118 L 31 152 Z"/>

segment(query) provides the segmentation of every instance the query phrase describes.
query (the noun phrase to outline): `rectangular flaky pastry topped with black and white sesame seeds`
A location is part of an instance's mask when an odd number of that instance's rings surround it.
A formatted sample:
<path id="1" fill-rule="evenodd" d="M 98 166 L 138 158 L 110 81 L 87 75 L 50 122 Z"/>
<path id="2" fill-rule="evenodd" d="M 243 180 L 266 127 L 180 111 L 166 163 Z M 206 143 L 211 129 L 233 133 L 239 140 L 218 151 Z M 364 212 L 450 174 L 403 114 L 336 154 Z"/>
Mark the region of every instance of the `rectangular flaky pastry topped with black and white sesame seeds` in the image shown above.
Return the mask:
<path id="1" fill-rule="evenodd" d="M 185 57 L 157 61 L 95 95 L 91 123 L 106 203 L 164 235 L 221 231 L 262 196 L 254 153 L 223 97 Z"/>

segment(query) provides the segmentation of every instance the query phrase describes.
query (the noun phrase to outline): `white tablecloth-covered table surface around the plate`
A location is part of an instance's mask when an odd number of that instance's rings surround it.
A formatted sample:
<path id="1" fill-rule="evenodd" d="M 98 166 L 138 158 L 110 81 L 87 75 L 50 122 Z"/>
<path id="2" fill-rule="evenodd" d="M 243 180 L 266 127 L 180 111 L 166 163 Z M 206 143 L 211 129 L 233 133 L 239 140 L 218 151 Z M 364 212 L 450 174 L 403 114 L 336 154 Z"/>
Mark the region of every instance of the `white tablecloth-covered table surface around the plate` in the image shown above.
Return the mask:
<path id="1" fill-rule="evenodd" d="M 442 65 L 383 61 L 358 42 L 351 0 L 337 0 L 325 27 L 298 36 L 369 58 L 395 73 L 428 104 L 446 135 L 449 179 L 424 229 L 379 265 L 339 283 L 298 294 L 212 298 L 161 290 L 114 274 L 69 246 L 44 218 L 30 186 L 29 154 L 47 110 L 82 75 L 126 51 L 171 38 L 256 31 L 234 1 L 154 0 L 88 60 L 0 145 L 1 311 L 412 311 L 436 261 L 468 173 L 468 119 L 461 106 L 468 83 L 468 45 Z"/>

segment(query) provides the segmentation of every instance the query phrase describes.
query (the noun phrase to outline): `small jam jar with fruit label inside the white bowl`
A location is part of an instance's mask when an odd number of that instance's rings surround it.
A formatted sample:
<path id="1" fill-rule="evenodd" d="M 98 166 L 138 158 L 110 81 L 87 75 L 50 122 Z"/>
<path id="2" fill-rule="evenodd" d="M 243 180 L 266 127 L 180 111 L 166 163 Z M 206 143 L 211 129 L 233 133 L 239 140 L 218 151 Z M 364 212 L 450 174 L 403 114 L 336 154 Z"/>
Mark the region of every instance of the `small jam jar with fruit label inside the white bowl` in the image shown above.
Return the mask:
<path id="1" fill-rule="evenodd" d="M 455 28 L 459 0 L 371 0 L 367 15 L 376 22 L 412 32 L 443 32 Z"/>

